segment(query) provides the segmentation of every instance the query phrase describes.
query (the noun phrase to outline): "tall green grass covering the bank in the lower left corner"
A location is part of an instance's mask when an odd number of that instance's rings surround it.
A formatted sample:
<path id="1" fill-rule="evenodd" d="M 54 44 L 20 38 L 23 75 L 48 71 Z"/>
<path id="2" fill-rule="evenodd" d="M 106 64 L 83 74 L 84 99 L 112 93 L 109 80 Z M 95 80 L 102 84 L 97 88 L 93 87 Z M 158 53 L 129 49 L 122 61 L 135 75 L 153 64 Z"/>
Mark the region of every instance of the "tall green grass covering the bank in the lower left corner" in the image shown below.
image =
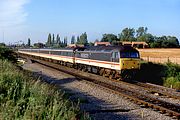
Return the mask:
<path id="1" fill-rule="evenodd" d="M 0 67 L 1 119 L 89 119 L 56 87 L 33 80 L 6 60 L 0 60 Z"/>

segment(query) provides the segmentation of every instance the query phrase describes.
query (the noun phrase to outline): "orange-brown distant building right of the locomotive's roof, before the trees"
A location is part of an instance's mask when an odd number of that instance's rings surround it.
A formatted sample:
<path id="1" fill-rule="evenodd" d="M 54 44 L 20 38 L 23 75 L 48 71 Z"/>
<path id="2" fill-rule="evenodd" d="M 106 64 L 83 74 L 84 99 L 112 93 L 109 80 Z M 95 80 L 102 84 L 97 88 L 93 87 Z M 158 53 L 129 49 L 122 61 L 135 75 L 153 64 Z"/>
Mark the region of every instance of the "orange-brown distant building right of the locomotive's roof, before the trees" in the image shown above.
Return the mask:
<path id="1" fill-rule="evenodd" d="M 122 42 L 122 45 L 128 45 L 137 48 L 147 48 L 149 46 L 146 42 Z"/>

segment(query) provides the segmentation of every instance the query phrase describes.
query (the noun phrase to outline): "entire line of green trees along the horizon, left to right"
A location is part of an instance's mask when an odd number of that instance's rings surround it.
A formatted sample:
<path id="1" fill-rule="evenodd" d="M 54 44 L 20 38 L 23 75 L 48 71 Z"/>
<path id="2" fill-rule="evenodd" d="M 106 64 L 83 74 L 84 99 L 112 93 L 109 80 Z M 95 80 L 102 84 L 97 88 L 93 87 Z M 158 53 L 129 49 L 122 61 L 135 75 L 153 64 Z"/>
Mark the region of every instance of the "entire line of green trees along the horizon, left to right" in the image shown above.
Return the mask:
<path id="1" fill-rule="evenodd" d="M 95 40 L 95 42 L 110 42 L 112 45 L 118 45 L 121 42 L 146 42 L 150 48 L 177 48 L 179 47 L 179 41 L 175 36 L 161 36 L 157 37 L 148 33 L 147 27 L 139 27 L 138 29 L 134 28 L 124 28 L 118 35 L 106 33 L 102 35 L 100 40 Z M 28 39 L 27 46 L 30 45 L 30 38 Z M 60 35 L 57 34 L 48 34 L 47 42 L 43 43 L 35 43 L 34 47 L 49 47 L 49 48 L 61 48 L 66 47 L 68 44 L 68 38 L 64 37 L 61 40 Z M 87 33 L 84 32 L 80 36 L 72 36 L 70 40 L 70 44 L 78 44 L 84 46 L 92 46 L 92 42 L 88 42 Z M 138 47 L 138 46 L 137 46 Z"/>

